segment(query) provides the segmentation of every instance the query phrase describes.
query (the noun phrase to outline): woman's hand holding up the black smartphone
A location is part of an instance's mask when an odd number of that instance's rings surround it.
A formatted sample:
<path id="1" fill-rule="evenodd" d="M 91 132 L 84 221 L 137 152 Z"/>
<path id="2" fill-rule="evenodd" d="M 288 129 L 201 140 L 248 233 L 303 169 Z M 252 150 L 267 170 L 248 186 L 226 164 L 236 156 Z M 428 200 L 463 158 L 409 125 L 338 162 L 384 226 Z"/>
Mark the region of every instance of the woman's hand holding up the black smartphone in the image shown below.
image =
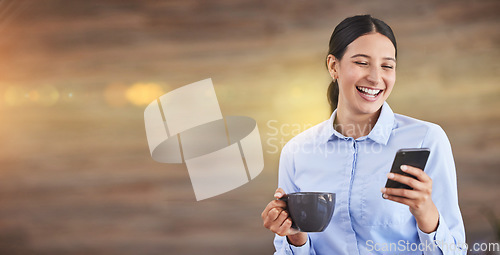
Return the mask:
<path id="1" fill-rule="evenodd" d="M 422 232 L 431 233 L 436 231 L 439 224 L 439 212 L 434 202 L 432 202 L 432 179 L 424 171 L 416 167 L 402 165 L 401 170 L 415 176 L 417 179 L 394 173 L 389 173 L 387 177 L 406 184 L 412 187 L 413 190 L 382 188 L 384 198 L 408 205 Z"/>

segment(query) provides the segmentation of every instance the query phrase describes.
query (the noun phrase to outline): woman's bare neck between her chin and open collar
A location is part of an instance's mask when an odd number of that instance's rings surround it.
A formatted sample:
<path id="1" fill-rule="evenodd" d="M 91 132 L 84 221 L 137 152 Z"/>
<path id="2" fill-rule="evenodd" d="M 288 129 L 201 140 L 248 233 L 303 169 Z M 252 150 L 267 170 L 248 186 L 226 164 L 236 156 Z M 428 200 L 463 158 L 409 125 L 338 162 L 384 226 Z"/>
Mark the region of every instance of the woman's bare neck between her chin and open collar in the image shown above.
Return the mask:
<path id="1" fill-rule="evenodd" d="M 374 113 L 354 114 L 343 108 L 337 108 L 333 128 L 346 137 L 357 139 L 366 136 L 377 123 L 381 109 Z"/>

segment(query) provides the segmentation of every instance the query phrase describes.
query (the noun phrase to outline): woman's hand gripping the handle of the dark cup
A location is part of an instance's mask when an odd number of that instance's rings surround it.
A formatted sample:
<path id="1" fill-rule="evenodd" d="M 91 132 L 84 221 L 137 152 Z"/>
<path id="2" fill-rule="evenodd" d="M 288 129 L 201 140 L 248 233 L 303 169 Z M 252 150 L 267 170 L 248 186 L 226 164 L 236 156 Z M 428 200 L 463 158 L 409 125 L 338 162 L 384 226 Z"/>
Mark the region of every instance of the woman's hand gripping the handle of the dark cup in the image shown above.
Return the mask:
<path id="1" fill-rule="evenodd" d="M 292 228 L 292 219 L 286 210 L 286 203 L 278 200 L 284 195 L 285 192 L 283 189 L 278 188 L 274 194 L 274 197 L 277 199 L 267 204 L 261 215 L 264 227 L 279 236 L 287 236 L 290 244 L 302 246 L 307 242 L 307 234 Z"/>

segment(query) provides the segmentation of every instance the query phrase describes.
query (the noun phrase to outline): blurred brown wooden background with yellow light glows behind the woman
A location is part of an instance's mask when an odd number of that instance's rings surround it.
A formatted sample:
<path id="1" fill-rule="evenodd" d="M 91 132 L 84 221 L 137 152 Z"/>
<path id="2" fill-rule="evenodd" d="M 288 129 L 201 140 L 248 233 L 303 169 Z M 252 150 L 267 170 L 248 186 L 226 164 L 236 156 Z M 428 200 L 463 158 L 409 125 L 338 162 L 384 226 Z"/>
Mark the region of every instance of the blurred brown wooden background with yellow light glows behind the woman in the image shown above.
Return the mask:
<path id="1" fill-rule="evenodd" d="M 467 242 L 498 242 L 499 1 L 2 0 L 0 254 L 272 253 L 280 141 L 328 118 L 329 37 L 365 13 L 398 40 L 393 110 L 450 138 Z M 265 168 L 196 202 L 143 111 L 209 77 L 224 115 L 257 120 Z"/>

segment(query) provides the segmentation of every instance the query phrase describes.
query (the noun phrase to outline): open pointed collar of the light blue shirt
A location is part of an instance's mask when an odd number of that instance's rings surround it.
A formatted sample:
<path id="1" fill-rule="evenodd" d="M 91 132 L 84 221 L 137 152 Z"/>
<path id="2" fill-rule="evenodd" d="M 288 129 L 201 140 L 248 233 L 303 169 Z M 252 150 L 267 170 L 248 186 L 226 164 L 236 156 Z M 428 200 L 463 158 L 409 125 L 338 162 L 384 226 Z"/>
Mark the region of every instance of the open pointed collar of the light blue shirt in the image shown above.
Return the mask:
<path id="1" fill-rule="evenodd" d="M 337 116 L 337 109 L 333 111 L 330 119 L 328 120 L 328 126 L 325 129 L 325 138 L 327 141 L 333 140 L 335 138 L 338 139 L 346 139 L 347 137 L 339 133 L 337 130 L 333 128 L 333 123 L 335 121 L 335 117 Z M 384 102 L 382 105 L 382 110 L 380 112 L 380 116 L 378 117 L 377 123 L 370 131 L 367 136 L 363 136 L 358 138 L 357 140 L 365 140 L 371 139 L 376 143 L 380 143 L 386 145 L 389 141 L 389 137 L 391 136 L 391 132 L 395 125 L 394 112 L 387 102 Z"/>

